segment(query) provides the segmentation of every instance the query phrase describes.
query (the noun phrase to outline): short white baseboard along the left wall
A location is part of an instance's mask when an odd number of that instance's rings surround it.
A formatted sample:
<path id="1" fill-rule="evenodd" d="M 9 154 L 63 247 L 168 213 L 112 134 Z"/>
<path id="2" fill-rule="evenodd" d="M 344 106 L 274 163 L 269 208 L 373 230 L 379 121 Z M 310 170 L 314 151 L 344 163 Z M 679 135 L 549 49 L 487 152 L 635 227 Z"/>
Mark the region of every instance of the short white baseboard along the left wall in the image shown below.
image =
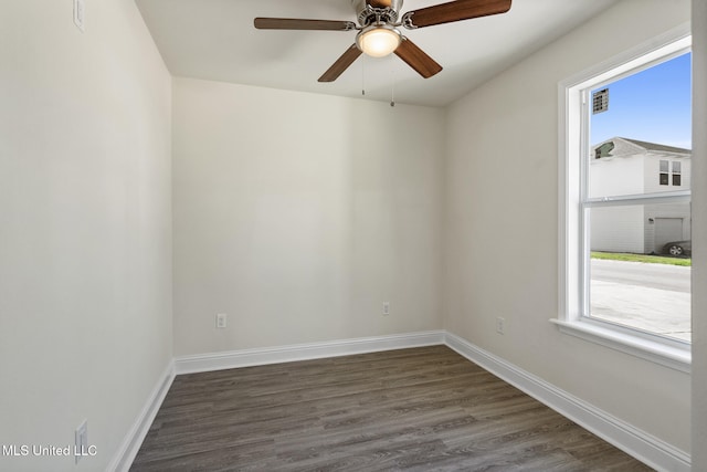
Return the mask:
<path id="1" fill-rule="evenodd" d="M 147 399 L 145 407 L 143 407 L 143 411 L 140 411 L 135 423 L 133 423 L 133 428 L 130 428 L 128 433 L 125 436 L 118 452 L 108 464 L 108 468 L 106 469 L 107 471 L 128 472 L 173 380 L 175 363 L 170 361 L 160 376 L 155 389 L 152 389 L 152 394 Z"/>

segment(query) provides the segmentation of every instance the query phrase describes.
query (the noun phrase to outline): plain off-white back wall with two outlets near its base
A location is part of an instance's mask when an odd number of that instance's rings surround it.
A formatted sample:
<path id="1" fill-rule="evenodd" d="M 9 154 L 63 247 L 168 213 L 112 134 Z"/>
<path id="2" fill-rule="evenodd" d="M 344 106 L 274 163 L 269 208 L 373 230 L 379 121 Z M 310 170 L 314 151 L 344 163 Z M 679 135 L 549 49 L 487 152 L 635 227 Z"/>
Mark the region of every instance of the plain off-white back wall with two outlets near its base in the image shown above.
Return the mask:
<path id="1" fill-rule="evenodd" d="M 440 109 L 177 78 L 176 354 L 441 328 L 443 141 Z"/>

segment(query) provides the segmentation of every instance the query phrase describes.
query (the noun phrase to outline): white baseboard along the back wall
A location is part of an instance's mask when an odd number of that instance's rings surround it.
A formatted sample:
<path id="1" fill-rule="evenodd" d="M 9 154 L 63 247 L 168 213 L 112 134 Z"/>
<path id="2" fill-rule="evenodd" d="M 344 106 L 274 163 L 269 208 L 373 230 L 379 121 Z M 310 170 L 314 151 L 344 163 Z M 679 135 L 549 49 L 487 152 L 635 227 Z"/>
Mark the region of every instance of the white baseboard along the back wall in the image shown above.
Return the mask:
<path id="1" fill-rule="evenodd" d="M 443 331 L 296 344 L 292 346 L 181 356 L 175 358 L 175 370 L 177 375 L 203 373 L 439 344 L 444 344 Z"/>

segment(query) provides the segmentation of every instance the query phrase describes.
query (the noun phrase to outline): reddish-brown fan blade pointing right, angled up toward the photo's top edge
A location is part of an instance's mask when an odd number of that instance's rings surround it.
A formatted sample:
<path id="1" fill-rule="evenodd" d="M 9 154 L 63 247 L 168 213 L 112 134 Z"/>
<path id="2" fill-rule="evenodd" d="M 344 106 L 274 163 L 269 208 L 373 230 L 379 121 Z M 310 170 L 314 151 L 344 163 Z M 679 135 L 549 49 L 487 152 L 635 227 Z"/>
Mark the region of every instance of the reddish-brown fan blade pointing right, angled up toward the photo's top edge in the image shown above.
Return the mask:
<path id="1" fill-rule="evenodd" d="M 403 25 L 408 29 L 432 27 L 453 21 L 471 20 L 505 13 L 510 10 L 511 0 L 456 0 L 440 3 L 420 10 L 409 11 L 403 15 Z"/>

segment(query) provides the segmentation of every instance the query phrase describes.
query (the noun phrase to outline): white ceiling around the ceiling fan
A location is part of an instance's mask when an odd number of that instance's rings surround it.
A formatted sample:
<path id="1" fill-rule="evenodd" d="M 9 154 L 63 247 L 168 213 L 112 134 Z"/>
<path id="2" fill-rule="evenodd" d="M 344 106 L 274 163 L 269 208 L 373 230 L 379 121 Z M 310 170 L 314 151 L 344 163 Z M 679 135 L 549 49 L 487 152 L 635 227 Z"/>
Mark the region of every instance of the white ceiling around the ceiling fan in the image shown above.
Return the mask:
<path id="1" fill-rule="evenodd" d="M 350 0 L 136 0 L 175 76 L 444 106 L 619 0 L 514 0 L 508 13 L 402 30 L 444 70 L 422 78 L 394 54 L 361 55 L 333 83 L 317 78 L 356 31 L 256 30 L 255 17 L 356 22 Z M 402 12 L 441 3 L 405 0 Z"/>

